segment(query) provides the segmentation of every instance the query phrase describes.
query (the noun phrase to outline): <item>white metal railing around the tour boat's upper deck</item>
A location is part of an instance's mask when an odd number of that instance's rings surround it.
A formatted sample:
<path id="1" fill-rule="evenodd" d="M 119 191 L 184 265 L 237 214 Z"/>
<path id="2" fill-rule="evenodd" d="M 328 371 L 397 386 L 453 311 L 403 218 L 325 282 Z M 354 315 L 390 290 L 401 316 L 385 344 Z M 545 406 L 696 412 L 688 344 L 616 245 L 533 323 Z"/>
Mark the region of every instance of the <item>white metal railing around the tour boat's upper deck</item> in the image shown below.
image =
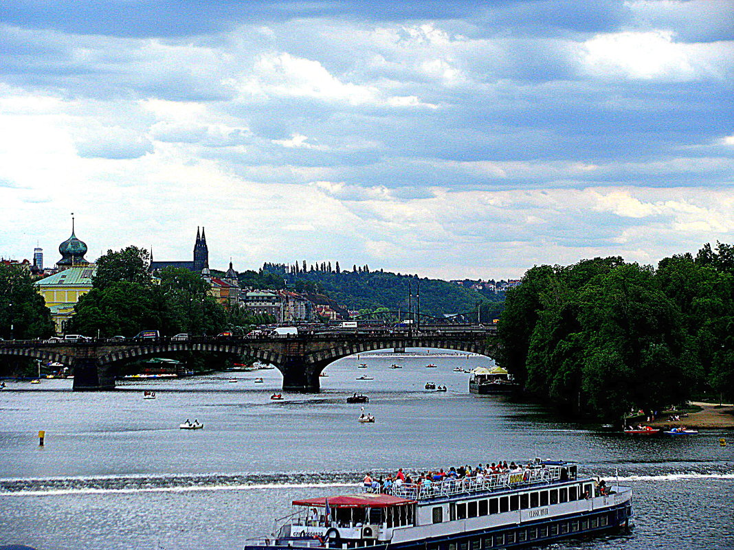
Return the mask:
<path id="1" fill-rule="evenodd" d="M 487 476 L 476 477 L 458 477 L 456 479 L 445 479 L 431 483 L 403 483 L 402 485 L 393 485 L 388 493 L 406 499 L 425 500 L 458 494 L 498 491 L 526 485 L 548 484 L 564 479 L 570 479 L 567 467 L 543 466 L 540 468 L 520 470 L 518 472 L 489 474 Z M 375 489 L 366 488 L 366 491 L 371 492 L 375 491 Z"/>

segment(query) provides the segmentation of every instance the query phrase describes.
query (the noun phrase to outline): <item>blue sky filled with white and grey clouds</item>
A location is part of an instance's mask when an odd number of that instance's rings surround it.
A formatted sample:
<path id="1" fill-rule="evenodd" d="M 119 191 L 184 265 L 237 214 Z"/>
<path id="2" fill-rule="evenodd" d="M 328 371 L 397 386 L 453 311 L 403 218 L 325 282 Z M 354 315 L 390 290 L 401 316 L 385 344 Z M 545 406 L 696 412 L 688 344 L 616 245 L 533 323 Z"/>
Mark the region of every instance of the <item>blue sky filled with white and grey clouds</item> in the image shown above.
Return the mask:
<path id="1" fill-rule="evenodd" d="M 519 278 L 734 242 L 734 3 L 4 0 L 0 256 Z"/>

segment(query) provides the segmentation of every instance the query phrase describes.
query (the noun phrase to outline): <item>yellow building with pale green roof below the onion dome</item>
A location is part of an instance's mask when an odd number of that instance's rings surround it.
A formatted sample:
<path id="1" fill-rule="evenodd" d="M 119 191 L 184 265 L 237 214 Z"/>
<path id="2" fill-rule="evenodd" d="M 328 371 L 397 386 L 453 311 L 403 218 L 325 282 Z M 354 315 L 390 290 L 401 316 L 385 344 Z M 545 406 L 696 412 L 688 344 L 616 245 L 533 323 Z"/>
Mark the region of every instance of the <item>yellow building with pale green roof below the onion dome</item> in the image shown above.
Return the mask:
<path id="1" fill-rule="evenodd" d="M 94 264 L 67 268 L 57 274 L 34 282 L 36 290 L 51 309 L 51 319 L 57 334 L 65 334 L 74 314 L 74 306 L 81 296 L 92 290 L 92 277 L 97 271 Z"/>

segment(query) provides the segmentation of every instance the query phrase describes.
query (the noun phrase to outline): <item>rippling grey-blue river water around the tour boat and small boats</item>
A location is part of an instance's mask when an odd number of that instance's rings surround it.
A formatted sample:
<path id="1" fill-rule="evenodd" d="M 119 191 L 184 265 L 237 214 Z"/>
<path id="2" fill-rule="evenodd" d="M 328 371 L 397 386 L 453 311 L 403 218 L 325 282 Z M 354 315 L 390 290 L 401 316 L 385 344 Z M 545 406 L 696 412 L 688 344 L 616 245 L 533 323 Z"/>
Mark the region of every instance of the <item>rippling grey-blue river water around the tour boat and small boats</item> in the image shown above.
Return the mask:
<path id="1" fill-rule="evenodd" d="M 269 398 L 280 392 L 277 370 L 119 381 L 100 393 L 71 392 L 70 380 L 8 383 L 0 545 L 241 549 L 272 532 L 292 499 L 352 491 L 365 472 L 541 456 L 618 472 L 635 494 L 631 532 L 554 549 L 734 549 L 733 431 L 631 439 L 540 406 L 470 395 L 468 374 L 454 372 L 489 365 L 479 356 L 353 356 L 327 368 L 318 395 L 284 393 L 283 401 Z M 374 380 L 356 380 L 365 373 Z M 426 381 L 448 392 L 428 392 Z M 142 399 L 145 389 L 156 399 Z M 377 422 L 357 422 L 360 406 L 346 403 L 352 392 L 370 397 Z M 187 418 L 205 428 L 179 430 Z"/>

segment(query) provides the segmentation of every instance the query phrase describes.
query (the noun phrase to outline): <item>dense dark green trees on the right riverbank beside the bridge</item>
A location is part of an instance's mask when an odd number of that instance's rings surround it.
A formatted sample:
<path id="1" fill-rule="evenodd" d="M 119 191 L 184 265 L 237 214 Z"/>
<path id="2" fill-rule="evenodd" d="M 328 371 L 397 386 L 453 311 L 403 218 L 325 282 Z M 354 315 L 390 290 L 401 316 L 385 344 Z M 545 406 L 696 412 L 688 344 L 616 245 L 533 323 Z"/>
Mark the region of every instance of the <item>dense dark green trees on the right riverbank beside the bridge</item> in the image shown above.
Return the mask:
<path id="1" fill-rule="evenodd" d="M 734 248 L 657 270 L 621 257 L 536 266 L 507 293 L 498 340 L 498 364 L 570 411 L 617 419 L 734 397 Z"/>

